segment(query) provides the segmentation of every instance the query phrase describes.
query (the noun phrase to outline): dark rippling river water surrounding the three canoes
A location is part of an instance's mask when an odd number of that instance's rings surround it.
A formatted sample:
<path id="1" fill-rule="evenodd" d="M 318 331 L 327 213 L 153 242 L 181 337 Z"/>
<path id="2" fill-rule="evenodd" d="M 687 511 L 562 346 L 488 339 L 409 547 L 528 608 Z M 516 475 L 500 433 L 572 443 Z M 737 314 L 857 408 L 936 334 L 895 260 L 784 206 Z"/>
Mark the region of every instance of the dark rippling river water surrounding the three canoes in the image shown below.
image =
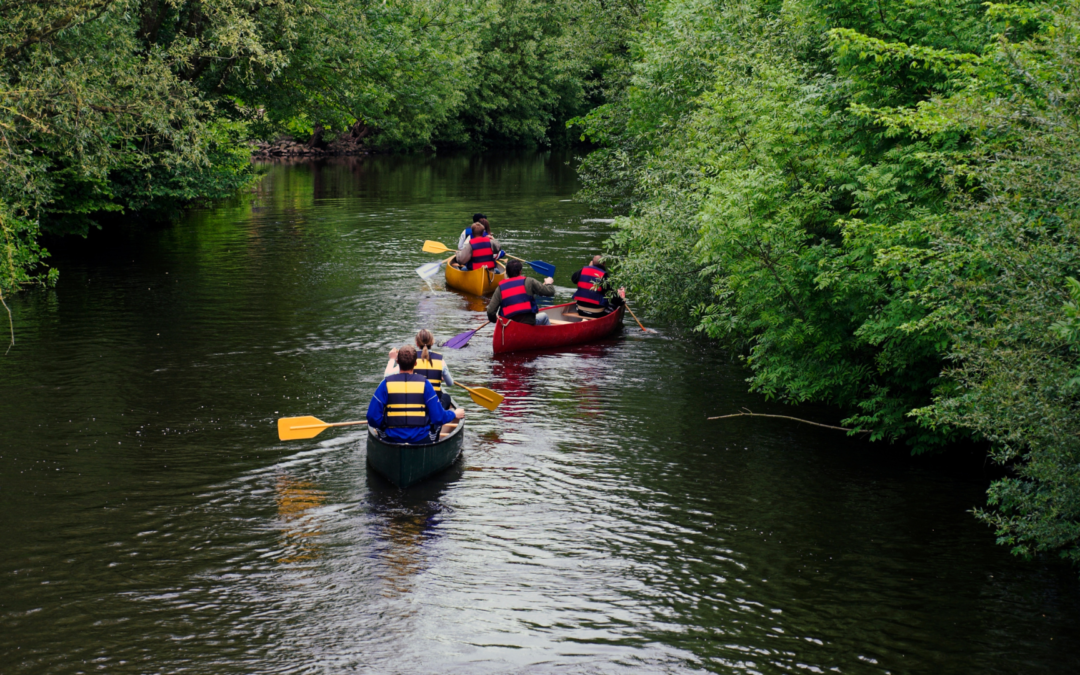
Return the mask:
<path id="1" fill-rule="evenodd" d="M 975 522 L 981 459 L 706 421 L 785 408 L 670 326 L 499 359 L 481 333 L 450 368 L 507 400 L 406 491 L 355 428 L 276 440 L 363 419 L 418 328 L 483 322 L 414 273 L 475 211 L 568 298 L 609 226 L 566 159 L 279 165 L 58 248 L 0 359 L 0 672 L 1080 671 L 1075 572 Z"/>

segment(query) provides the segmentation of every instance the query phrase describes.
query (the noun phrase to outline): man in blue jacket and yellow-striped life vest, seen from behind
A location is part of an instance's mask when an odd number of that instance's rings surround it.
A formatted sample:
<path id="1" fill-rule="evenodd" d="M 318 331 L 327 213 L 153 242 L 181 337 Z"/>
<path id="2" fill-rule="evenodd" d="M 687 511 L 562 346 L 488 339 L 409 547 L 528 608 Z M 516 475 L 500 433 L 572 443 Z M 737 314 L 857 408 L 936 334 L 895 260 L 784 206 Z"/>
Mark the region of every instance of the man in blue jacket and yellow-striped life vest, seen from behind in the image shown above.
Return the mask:
<path id="1" fill-rule="evenodd" d="M 416 375 L 416 349 L 397 350 L 396 375 L 387 376 L 367 405 L 367 423 L 390 443 L 423 445 L 438 441 L 443 424 L 464 417 L 461 408 L 447 410 L 422 375 Z"/>

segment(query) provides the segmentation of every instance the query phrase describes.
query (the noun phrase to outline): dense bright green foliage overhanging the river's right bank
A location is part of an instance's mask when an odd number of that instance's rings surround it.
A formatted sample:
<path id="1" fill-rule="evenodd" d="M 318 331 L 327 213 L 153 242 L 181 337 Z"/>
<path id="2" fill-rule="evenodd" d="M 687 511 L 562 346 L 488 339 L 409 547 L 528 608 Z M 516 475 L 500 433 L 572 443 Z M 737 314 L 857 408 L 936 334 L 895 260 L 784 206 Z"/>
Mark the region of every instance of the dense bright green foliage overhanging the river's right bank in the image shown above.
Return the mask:
<path id="1" fill-rule="evenodd" d="M 673 0 L 578 120 L 586 197 L 629 210 L 611 244 L 653 311 L 874 438 L 990 441 L 1011 475 L 980 516 L 1074 559 L 1077 11 Z"/>

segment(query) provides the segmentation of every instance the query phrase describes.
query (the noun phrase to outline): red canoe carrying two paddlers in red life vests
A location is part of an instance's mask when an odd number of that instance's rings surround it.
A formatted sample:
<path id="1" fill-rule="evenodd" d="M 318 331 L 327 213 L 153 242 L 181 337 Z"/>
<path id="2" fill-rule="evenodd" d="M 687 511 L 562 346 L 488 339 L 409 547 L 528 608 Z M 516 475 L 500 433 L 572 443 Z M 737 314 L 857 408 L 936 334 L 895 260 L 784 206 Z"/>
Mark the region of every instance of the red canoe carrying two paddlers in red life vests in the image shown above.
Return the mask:
<path id="1" fill-rule="evenodd" d="M 554 349 L 592 342 L 622 327 L 622 315 L 625 312 L 622 307 L 599 319 L 582 319 L 578 315 L 577 308 L 576 302 L 568 302 L 540 310 L 551 318 L 550 326 L 530 326 L 500 316 L 495 322 L 491 348 L 497 354 Z"/>

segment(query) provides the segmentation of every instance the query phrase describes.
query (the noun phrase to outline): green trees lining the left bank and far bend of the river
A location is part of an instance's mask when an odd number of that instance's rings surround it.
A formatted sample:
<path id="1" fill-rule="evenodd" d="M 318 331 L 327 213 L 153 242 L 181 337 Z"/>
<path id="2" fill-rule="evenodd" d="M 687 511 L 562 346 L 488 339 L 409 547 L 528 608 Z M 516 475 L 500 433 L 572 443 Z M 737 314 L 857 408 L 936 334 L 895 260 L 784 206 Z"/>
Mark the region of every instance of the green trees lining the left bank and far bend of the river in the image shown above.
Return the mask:
<path id="1" fill-rule="evenodd" d="M 40 232 L 167 218 L 251 178 L 247 140 L 565 140 L 624 77 L 629 0 L 0 4 L 0 293 Z"/>

